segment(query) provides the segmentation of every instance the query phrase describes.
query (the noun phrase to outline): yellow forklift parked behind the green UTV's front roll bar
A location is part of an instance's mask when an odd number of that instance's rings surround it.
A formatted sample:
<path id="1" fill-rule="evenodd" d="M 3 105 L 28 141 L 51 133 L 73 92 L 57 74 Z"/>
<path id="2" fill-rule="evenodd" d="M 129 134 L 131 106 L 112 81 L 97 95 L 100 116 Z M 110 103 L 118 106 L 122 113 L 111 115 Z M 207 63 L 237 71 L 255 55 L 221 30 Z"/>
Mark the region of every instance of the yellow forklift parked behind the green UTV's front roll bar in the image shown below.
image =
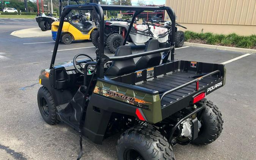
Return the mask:
<path id="1" fill-rule="evenodd" d="M 79 0 L 70 0 L 79 4 Z M 93 0 L 95 1 L 95 0 Z M 60 0 L 60 15 L 61 15 L 61 2 Z M 98 3 L 96 0 L 94 3 Z M 52 39 L 56 41 L 57 31 L 60 22 L 52 23 Z M 65 18 L 63 24 L 60 41 L 64 44 L 71 44 L 72 41 L 89 40 L 96 32 L 97 27 L 95 24 L 94 13 L 82 10 L 73 10 Z"/>

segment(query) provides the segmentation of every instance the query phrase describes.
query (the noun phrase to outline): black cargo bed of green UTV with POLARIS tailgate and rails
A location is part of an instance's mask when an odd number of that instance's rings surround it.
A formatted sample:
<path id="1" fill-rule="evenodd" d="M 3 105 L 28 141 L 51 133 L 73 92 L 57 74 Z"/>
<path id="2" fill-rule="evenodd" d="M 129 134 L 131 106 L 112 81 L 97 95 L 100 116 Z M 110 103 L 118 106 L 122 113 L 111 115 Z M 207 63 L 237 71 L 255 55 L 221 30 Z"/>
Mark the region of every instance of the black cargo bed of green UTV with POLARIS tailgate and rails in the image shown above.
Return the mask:
<path id="1" fill-rule="evenodd" d="M 162 117 L 166 118 L 191 105 L 193 97 L 198 94 L 204 92 L 206 96 L 222 87 L 225 84 L 225 67 L 223 64 L 173 60 L 108 78 L 111 80 L 106 82 L 112 82 L 116 86 L 151 95 L 159 94 Z"/>

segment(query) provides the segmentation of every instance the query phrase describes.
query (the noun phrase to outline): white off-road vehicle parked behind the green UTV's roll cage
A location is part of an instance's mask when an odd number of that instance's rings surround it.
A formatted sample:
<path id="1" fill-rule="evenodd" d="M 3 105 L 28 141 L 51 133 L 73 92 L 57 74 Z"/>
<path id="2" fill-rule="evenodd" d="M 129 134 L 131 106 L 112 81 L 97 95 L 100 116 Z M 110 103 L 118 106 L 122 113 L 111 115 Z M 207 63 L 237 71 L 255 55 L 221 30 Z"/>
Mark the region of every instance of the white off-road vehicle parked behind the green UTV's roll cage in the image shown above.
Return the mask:
<path id="1" fill-rule="evenodd" d="M 165 22 L 165 24 L 160 24 Z M 104 46 L 110 52 L 115 53 L 116 49 L 123 45 L 126 32 L 129 28 L 129 20 L 106 21 L 104 33 Z M 183 27 L 183 26 L 182 26 Z M 184 32 L 176 29 L 176 47 L 181 47 L 184 43 Z M 143 24 L 133 24 L 127 42 L 134 45 L 145 45 L 151 39 L 157 39 L 160 43 L 170 42 L 171 24 L 166 21 L 155 21 L 148 23 L 143 21 Z M 91 40 L 94 46 L 99 46 L 99 30 L 91 34 Z"/>

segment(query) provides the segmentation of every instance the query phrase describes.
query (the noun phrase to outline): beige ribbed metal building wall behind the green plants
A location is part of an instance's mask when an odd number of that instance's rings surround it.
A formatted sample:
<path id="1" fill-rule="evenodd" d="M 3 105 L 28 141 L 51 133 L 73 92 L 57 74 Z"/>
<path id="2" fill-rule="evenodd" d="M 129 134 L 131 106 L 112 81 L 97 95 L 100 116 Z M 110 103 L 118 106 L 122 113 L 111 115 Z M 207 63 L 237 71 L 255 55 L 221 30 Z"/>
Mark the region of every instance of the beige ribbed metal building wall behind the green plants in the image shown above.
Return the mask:
<path id="1" fill-rule="evenodd" d="M 174 9 L 176 22 L 190 31 L 256 34 L 256 0 L 166 0 L 165 5 Z"/>

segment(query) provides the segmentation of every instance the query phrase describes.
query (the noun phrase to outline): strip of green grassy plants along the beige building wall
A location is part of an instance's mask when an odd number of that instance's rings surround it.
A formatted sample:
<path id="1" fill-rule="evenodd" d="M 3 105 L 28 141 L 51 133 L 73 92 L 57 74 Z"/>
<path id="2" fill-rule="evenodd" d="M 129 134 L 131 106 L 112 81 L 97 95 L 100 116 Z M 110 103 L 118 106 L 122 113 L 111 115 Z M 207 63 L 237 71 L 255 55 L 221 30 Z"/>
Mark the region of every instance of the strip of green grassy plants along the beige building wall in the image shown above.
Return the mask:
<path id="1" fill-rule="evenodd" d="M 213 33 L 196 33 L 192 31 L 185 31 L 185 41 L 201 39 L 202 43 L 212 45 L 236 46 L 239 48 L 253 48 L 256 47 L 256 35 L 239 36 L 236 33 L 229 35 L 213 34 Z M 200 42 L 200 41 L 199 41 Z"/>

